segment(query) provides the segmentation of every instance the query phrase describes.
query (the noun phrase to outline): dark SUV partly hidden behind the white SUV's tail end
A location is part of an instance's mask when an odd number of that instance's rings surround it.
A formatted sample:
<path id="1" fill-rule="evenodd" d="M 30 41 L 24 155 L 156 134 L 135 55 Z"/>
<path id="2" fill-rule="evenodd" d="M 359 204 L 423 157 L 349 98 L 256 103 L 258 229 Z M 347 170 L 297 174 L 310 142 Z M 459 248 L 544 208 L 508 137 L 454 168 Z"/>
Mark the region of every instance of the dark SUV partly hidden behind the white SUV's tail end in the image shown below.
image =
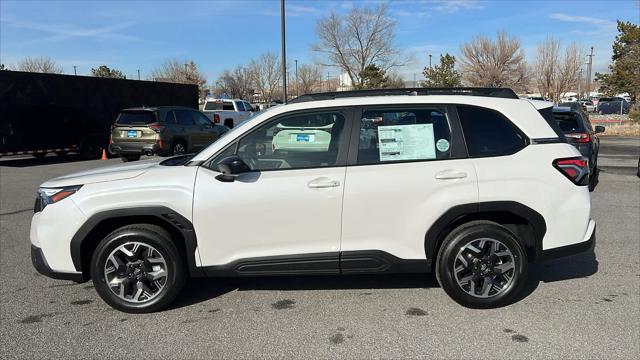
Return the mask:
<path id="1" fill-rule="evenodd" d="M 604 126 L 598 125 L 594 129 L 581 107 L 580 110 L 573 110 L 565 106 L 555 106 L 553 117 L 567 138 L 567 142 L 575 146 L 582 156 L 589 159 L 591 175 L 589 190 L 593 191 L 598 184 L 598 151 L 600 150 L 600 139 L 596 134 L 604 132 Z"/>

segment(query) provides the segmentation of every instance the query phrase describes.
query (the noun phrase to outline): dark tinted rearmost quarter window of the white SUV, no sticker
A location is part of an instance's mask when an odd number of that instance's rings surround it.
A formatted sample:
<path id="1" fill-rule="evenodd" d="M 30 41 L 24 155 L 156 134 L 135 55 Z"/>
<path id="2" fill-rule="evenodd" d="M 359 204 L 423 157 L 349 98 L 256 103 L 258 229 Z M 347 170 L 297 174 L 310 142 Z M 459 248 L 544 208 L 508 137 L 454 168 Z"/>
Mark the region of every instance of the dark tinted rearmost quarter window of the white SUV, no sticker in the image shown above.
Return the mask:
<path id="1" fill-rule="evenodd" d="M 470 157 L 510 155 L 526 145 L 522 135 L 500 113 L 476 106 L 459 106 Z"/>

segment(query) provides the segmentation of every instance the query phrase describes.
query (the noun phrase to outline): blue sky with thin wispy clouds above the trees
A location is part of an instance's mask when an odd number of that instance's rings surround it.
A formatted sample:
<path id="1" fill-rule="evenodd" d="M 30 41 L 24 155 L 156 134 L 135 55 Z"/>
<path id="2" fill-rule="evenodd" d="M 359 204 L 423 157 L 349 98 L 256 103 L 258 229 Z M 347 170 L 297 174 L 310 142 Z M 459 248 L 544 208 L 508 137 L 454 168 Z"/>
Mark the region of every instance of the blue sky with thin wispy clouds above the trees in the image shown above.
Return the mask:
<path id="1" fill-rule="evenodd" d="M 287 0 L 287 57 L 313 62 L 315 23 L 331 11 L 380 1 Z M 398 69 L 412 80 L 438 54 L 506 30 L 522 40 L 529 59 L 547 35 L 594 46 L 594 69 L 605 71 L 616 19 L 640 22 L 640 1 L 389 1 L 396 44 L 413 61 Z M 193 59 L 212 82 L 224 69 L 267 51 L 280 52 L 280 2 L 263 1 L 12 1 L 0 0 L 0 62 L 50 56 L 66 73 L 88 74 L 106 64 L 144 78 L 168 58 Z M 332 77 L 338 71 L 330 70 Z"/>

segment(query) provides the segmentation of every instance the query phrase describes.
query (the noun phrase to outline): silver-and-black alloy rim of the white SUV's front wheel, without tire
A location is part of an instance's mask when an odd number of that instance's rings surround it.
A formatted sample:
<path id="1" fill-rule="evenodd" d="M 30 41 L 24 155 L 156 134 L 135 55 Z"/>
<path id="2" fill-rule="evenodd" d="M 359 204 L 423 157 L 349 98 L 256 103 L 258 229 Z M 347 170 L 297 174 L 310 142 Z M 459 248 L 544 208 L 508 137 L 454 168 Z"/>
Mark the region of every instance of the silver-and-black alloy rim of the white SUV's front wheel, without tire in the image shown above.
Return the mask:
<path id="1" fill-rule="evenodd" d="M 114 249 L 104 264 L 109 289 L 120 299 L 144 303 L 158 296 L 167 283 L 167 263 L 153 246 L 127 242 Z"/>

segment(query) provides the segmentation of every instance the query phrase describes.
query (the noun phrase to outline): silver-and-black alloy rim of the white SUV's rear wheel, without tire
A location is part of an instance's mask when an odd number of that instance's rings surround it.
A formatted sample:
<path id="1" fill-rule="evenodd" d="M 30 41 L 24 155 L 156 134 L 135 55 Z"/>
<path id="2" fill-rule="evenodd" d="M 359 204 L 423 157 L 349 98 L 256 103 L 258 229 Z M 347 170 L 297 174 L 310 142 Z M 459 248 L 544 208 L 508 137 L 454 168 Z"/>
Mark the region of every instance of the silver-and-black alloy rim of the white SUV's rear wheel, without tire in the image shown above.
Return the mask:
<path id="1" fill-rule="evenodd" d="M 505 244 L 482 238 L 458 251 L 454 262 L 455 280 L 467 294 L 489 298 L 511 286 L 515 265 L 515 258 Z"/>

